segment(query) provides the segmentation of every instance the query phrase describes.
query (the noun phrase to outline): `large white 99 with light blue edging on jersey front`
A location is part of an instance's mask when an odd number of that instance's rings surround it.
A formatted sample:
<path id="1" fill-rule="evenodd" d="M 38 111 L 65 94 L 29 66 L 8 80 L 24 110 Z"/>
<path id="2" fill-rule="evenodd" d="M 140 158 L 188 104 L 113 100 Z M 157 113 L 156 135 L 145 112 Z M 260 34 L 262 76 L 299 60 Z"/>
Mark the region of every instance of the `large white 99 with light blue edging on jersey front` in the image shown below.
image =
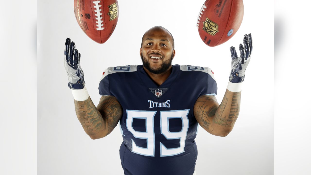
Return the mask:
<path id="1" fill-rule="evenodd" d="M 187 132 L 189 128 L 188 113 L 190 109 L 177 110 L 177 111 L 160 111 L 160 125 L 161 134 L 165 136 L 166 139 L 180 139 L 178 148 L 166 148 L 164 144 L 160 142 L 160 156 L 172 156 L 183 153 L 185 150 L 185 140 L 187 137 Z M 135 144 L 132 140 L 132 152 L 146 155 L 155 156 L 155 133 L 154 133 L 154 116 L 157 111 L 135 111 L 126 110 L 127 119 L 126 127 L 134 135 L 134 137 L 139 139 L 147 140 L 147 147 L 142 148 Z M 146 132 L 135 131 L 132 126 L 134 118 L 145 119 L 146 120 Z M 182 129 L 179 132 L 169 131 L 169 119 L 170 118 L 181 118 Z"/>

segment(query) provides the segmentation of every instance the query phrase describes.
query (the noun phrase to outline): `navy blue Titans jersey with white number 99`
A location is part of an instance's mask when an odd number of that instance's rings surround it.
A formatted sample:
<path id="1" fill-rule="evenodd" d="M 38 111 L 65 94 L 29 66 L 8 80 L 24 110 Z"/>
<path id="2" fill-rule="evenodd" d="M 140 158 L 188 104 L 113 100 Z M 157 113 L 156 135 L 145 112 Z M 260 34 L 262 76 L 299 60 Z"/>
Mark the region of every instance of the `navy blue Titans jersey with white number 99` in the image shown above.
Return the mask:
<path id="1" fill-rule="evenodd" d="M 142 65 L 110 67 L 99 84 L 100 95 L 117 98 L 123 108 L 121 165 L 125 175 L 192 175 L 197 159 L 198 97 L 216 95 L 210 68 L 173 65 L 160 86 Z"/>

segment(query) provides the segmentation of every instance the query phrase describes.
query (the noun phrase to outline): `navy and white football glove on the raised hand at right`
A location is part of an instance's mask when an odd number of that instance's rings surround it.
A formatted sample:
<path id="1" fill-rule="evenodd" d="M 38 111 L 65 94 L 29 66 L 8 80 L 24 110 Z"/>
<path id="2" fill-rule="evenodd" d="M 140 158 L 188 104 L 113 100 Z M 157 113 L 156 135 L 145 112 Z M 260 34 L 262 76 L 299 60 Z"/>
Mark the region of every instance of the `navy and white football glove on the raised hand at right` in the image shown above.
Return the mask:
<path id="1" fill-rule="evenodd" d="M 232 46 L 230 47 L 231 52 L 231 73 L 229 77 L 229 81 L 231 83 L 240 83 L 244 81 L 245 70 L 249 63 L 252 50 L 253 50 L 253 41 L 252 35 L 244 35 L 243 44 L 240 44 L 240 57 L 235 51 L 235 48 Z"/>

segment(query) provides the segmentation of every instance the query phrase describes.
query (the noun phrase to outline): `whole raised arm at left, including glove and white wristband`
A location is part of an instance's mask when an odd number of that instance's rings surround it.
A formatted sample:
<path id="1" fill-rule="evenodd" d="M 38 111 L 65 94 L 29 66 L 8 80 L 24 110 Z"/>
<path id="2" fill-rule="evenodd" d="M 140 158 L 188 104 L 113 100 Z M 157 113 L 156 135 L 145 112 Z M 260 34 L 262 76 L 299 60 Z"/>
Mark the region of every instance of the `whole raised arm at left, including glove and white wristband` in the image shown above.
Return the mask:
<path id="1" fill-rule="evenodd" d="M 81 54 L 70 38 L 66 39 L 64 54 L 68 86 L 72 89 L 77 117 L 87 135 L 92 139 L 103 138 L 116 127 L 123 109 L 113 96 L 102 96 L 96 108 L 85 87 L 80 65 Z"/>

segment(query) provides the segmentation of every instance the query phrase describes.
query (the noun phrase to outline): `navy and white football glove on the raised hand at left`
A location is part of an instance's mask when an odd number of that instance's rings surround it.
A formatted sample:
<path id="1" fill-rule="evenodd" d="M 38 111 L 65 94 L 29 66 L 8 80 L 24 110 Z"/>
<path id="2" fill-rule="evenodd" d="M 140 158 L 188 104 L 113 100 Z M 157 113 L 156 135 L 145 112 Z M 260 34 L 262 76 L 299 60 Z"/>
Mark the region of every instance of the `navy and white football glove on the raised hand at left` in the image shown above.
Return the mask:
<path id="1" fill-rule="evenodd" d="M 83 89 L 85 86 L 84 73 L 80 66 L 81 54 L 76 49 L 74 42 L 70 38 L 65 43 L 65 60 L 64 66 L 68 76 L 68 86 L 70 89 Z"/>

